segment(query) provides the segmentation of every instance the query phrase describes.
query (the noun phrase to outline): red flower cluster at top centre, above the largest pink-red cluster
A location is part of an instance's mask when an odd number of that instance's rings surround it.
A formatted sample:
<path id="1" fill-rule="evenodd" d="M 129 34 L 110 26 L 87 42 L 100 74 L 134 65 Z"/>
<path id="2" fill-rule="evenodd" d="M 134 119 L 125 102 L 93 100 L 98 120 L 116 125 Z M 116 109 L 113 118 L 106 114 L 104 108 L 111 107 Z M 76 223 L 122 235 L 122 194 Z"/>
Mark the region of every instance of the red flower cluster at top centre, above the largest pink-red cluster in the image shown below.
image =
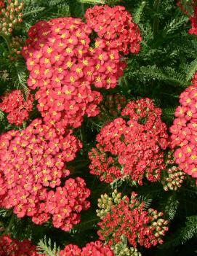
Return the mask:
<path id="1" fill-rule="evenodd" d="M 124 7 L 96 5 L 87 9 L 85 17 L 87 24 L 104 40 L 108 49 L 116 49 L 124 54 L 139 53 L 142 41 L 140 30 Z"/>

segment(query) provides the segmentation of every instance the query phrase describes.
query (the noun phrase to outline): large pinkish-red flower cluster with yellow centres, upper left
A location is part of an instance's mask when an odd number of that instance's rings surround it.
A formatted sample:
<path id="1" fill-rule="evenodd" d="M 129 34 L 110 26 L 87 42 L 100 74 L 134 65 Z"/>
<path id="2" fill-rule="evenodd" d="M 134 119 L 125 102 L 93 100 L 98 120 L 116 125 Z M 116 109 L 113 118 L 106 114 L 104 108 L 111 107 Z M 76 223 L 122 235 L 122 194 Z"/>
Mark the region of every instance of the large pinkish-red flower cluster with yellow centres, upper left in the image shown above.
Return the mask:
<path id="1" fill-rule="evenodd" d="M 90 44 L 89 26 L 76 18 L 40 21 L 28 32 L 22 53 L 30 71 L 28 87 L 36 93 L 46 123 L 79 127 L 84 115 L 96 116 L 102 95 L 92 90 L 115 88 L 125 63 L 102 39 Z"/>

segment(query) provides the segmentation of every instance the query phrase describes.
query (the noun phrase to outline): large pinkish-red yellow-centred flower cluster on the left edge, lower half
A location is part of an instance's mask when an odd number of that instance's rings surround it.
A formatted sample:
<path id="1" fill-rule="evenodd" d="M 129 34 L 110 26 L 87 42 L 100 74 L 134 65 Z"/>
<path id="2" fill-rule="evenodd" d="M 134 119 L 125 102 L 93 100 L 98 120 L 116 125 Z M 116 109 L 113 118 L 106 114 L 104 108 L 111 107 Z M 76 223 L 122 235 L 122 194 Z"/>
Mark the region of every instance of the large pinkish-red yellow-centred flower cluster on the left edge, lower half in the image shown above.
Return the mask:
<path id="1" fill-rule="evenodd" d="M 70 174 L 65 162 L 73 160 L 80 149 L 81 142 L 72 131 L 49 128 L 39 119 L 21 132 L 2 134 L 0 206 L 13 207 L 17 217 L 27 215 L 36 224 L 52 216 L 55 227 L 70 230 L 80 221 L 79 212 L 89 208 L 90 191 L 83 179 L 61 183 Z"/>

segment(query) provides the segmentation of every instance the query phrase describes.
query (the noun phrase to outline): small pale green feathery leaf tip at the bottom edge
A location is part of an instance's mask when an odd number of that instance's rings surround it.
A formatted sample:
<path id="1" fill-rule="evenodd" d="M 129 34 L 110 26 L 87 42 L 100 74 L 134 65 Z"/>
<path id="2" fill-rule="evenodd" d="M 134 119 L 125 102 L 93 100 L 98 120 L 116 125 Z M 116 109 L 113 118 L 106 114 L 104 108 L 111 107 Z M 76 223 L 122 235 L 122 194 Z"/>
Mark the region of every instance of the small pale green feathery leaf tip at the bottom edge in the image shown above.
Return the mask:
<path id="1" fill-rule="evenodd" d="M 44 241 L 39 241 L 37 250 L 39 251 L 39 253 L 49 256 L 58 256 L 60 252 L 60 248 L 57 247 L 56 243 L 52 245 L 51 239 L 49 238 L 49 240 L 47 241 L 46 236 L 44 236 Z"/>

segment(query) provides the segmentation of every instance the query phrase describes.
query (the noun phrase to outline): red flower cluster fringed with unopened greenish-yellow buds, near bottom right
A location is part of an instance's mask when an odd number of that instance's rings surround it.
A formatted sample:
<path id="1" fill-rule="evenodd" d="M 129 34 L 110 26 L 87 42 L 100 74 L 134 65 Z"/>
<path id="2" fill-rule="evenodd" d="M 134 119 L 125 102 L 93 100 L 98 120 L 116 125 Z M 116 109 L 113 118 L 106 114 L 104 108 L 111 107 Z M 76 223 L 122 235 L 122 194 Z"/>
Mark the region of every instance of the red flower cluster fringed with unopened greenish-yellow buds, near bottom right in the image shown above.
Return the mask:
<path id="1" fill-rule="evenodd" d="M 145 203 L 137 201 L 137 194 L 131 198 L 122 198 L 121 193 L 115 190 L 112 198 L 102 195 L 98 201 L 97 215 L 101 218 L 98 223 L 98 236 L 107 241 L 109 246 L 121 243 L 121 236 L 126 236 L 133 247 L 137 244 L 149 248 L 162 244 L 162 236 L 168 228 L 167 220 L 162 218 L 163 213 L 154 209 L 145 210 Z"/>

